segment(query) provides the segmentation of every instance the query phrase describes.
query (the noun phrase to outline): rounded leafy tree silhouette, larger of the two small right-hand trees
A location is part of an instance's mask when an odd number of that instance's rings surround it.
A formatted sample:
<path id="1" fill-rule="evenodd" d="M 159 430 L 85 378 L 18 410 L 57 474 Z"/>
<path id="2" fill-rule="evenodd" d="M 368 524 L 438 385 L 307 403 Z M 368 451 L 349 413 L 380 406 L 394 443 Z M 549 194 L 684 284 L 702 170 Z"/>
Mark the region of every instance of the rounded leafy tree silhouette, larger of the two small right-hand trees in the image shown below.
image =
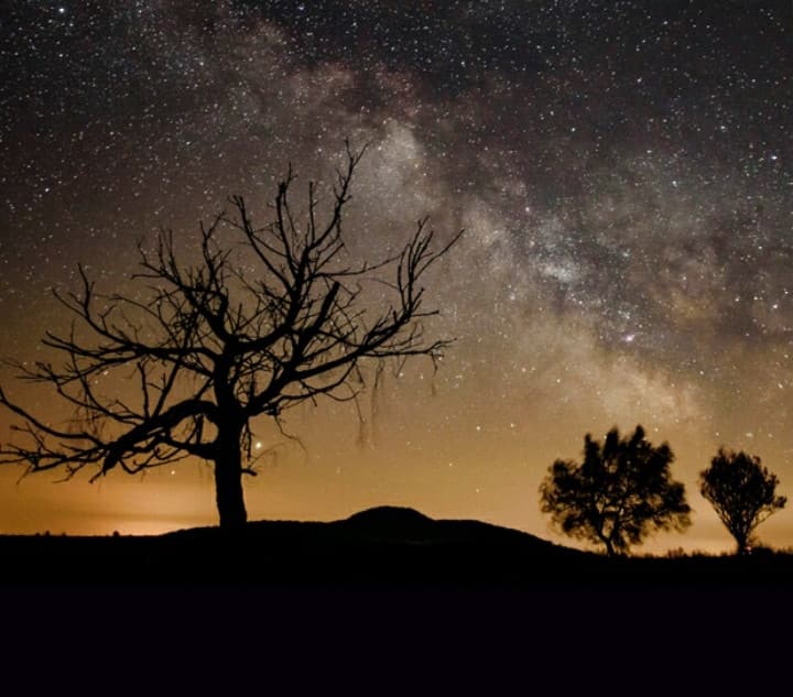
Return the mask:
<path id="1" fill-rule="evenodd" d="M 658 530 L 683 531 L 691 509 L 674 481 L 674 456 L 665 443 L 653 447 L 637 426 L 620 438 L 617 428 L 602 444 L 587 434 L 584 461 L 556 460 L 540 487 L 541 509 L 563 533 L 626 554 Z"/>

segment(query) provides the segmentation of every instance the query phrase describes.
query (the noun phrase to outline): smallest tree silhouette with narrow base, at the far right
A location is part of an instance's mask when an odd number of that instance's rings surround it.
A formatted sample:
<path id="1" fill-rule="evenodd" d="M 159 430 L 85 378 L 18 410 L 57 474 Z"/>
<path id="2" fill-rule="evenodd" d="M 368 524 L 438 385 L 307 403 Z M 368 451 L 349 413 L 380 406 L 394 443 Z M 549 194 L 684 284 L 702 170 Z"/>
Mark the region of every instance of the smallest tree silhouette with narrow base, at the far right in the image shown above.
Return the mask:
<path id="1" fill-rule="evenodd" d="M 742 450 L 719 448 L 699 473 L 699 491 L 735 537 L 738 554 L 748 551 L 754 529 L 787 503 L 786 497 L 776 495 L 776 475 Z"/>

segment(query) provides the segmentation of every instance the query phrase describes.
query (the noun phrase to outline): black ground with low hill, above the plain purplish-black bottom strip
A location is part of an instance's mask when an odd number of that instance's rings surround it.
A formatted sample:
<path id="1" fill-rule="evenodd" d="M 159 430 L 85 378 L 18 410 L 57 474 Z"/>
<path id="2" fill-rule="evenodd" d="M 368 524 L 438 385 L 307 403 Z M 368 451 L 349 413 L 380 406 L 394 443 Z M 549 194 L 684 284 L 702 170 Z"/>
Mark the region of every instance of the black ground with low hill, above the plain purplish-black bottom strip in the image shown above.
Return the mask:
<path id="1" fill-rule="evenodd" d="M 256 522 L 228 534 L 0 537 L 9 587 L 742 587 L 793 592 L 793 555 L 606 558 L 478 521 L 381 508 L 332 523 Z"/>

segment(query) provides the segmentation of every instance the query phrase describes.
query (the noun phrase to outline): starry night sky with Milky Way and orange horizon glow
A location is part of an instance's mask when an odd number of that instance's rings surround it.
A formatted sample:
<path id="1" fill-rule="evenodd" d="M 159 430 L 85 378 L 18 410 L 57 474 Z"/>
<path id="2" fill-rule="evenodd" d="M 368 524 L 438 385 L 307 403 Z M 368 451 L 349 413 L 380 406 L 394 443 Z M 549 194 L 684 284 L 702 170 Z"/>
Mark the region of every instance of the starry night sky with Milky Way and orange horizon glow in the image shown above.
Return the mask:
<path id="1" fill-rule="evenodd" d="M 584 434 L 669 442 L 693 526 L 648 551 L 726 551 L 696 488 L 720 445 L 793 494 L 793 6 L 734 0 L 24 1 L 0 10 L 0 355 L 34 360 L 82 262 L 133 288 L 135 244 L 243 195 L 267 215 L 291 162 L 329 182 L 370 143 L 350 249 L 428 215 L 463 240 L 434 271 L 437 373 L 267 421 L 251 519 L 378 504 L 556 542 L 537 504 Z M 134 291 L 132 291 L 134 292 Z M 52 400 L 0 371 L 9 393 Z M 0 438 L 10 417 L 0 414 Z M 0 531 L 214 524 L 211 473 L 53 483 L 0 472 Z M 793 546 L 793 509 L 759 530 Z"/>

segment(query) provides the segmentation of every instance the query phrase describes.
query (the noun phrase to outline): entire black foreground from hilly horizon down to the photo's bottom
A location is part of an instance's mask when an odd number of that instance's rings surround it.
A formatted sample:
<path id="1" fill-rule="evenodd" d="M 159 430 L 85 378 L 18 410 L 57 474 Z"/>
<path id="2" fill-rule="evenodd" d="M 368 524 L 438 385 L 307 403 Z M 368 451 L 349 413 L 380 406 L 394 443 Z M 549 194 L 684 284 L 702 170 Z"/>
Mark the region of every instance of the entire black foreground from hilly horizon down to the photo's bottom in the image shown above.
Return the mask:
<path id="1" fill-rule="evenodd" d="M 191 678 L 247 694 L 279 672 L 286 694 L 359 680 L 366 694 L 566 695 L 582 680 L 670 695 L 683 674 L 691 691 L 723 676 L 727 694 L 743 677 L 757 694 L 793 622 L 790 555 L 608 559 L 410 509 L 233 536 L 0 537 L 0 662 L 28 665 L 30 694 L 68 675 L 84 694 L 97 667 L 112 673 L 104 694 L 119 680 L 184 694 Z"/>

